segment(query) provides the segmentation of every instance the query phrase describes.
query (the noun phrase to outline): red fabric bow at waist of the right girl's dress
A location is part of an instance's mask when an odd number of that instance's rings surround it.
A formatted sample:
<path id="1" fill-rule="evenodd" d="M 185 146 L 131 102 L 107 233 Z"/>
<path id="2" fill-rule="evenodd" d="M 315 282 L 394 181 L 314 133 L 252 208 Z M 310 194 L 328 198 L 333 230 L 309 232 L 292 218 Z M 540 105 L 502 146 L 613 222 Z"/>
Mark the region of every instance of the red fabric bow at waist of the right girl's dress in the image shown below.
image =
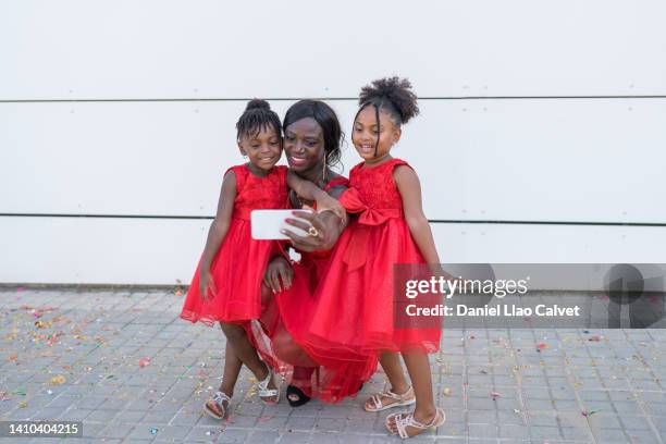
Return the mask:
<path id="1" fill-rule="evenodd" d="M 388 219 L 402 218 L 402 208 L 372 208 L 365 202 L 356 188 L 348 188 L 340 202 L 349 213 L 358 213 L 358 225 L 354 229 L 343 261 L 349 271 L 366 263 L 370 226 L 385 223 Z"/>

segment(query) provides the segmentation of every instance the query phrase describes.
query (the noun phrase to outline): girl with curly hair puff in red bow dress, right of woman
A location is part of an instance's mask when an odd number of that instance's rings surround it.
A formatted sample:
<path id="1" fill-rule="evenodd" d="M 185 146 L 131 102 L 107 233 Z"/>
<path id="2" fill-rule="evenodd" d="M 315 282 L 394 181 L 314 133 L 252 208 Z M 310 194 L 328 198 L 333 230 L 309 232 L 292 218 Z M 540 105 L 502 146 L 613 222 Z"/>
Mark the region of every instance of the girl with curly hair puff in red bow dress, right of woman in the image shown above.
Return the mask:
<path id="1" fill-rule="evenodd" d="M 372 396 L 365 408 L 380 411 L 416 403 L 414 412 L 386 418 L 391 433 L 402 437 L 445 420 L 434 405 L 428 359 L 439 349 L 441 329 L 398 328 L 394 314 L 393 266 L 430 264 L 436 273 L 440 263 L 421 208 L 419 178 L 407 162 L 391 157 L 402 125 L 419 113 L 410 88 L 407 79 L 392 77 L 361 89 L 351 140 L 363 161 L 349 172 L 349 189 L 340 198 L 358 217 L 337 242 L 318 287 L 317 310 L 300 337 L 313 359 L 349 350 L 379 354 L 392 387 Z"/>

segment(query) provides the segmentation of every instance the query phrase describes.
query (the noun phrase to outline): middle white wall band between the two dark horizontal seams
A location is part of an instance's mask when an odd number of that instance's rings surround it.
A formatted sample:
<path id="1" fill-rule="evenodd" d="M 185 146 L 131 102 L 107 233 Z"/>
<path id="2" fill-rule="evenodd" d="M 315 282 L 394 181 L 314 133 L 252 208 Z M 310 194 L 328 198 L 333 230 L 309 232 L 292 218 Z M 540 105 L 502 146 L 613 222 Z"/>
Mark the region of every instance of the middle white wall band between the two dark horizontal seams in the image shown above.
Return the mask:
<path id="1" fill-rule="evenodd" d="M 284 114 L 291 101 L 274 101 Z M 332 101 L 347 133 L 356 104 Z M 0 103 L 3 212 L 211 215 L 245 102 Z M 395 156 L 433 220 L 664 222 L 666 99 L 424 100 Z M 345 170 L 356 164 L 353 145 Z"/>

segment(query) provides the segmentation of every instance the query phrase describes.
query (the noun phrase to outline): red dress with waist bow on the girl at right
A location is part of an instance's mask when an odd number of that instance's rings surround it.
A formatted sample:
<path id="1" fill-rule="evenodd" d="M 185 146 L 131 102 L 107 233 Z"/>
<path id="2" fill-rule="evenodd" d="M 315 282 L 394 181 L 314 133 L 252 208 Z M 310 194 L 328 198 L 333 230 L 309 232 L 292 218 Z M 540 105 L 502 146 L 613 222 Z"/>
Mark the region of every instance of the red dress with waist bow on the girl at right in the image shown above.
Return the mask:
<path id="1" fill-rule="evenodd" d="M 418 273 L 427 269 L 393 178 L 398 165 L 408 164 L 392 159 L 377 166 L 360 163 L 349 172 L 350 187 L 340 202 L 358 218 L 340 237 L 317 287 L 317 307 L 298 336 L 314 359 L 347 353 L 439 350 L 441 319 L 396 318 L 403 300 L 394 296 L 394 266 L 410 264 Z"/>

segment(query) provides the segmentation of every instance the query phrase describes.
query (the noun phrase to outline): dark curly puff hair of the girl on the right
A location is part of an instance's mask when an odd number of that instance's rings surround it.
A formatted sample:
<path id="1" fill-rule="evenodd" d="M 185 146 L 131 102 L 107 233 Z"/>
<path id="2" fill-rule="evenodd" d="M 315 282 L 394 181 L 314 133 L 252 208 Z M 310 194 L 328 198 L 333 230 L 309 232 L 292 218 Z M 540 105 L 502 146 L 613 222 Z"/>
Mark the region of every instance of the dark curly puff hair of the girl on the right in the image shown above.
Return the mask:
<path id="1" fill-rule="evenodd" d="M 387 111 L 398 126 L 419 114 L 417 96 L 411 90 L 411 83 L 399 77 L 380 78 L 371 85 L 363 86 L 358 97 L 358 104 L 360 107 L 357 116 L 363 108 L 373 104 L 378 111 L 380 109 Z"/>

